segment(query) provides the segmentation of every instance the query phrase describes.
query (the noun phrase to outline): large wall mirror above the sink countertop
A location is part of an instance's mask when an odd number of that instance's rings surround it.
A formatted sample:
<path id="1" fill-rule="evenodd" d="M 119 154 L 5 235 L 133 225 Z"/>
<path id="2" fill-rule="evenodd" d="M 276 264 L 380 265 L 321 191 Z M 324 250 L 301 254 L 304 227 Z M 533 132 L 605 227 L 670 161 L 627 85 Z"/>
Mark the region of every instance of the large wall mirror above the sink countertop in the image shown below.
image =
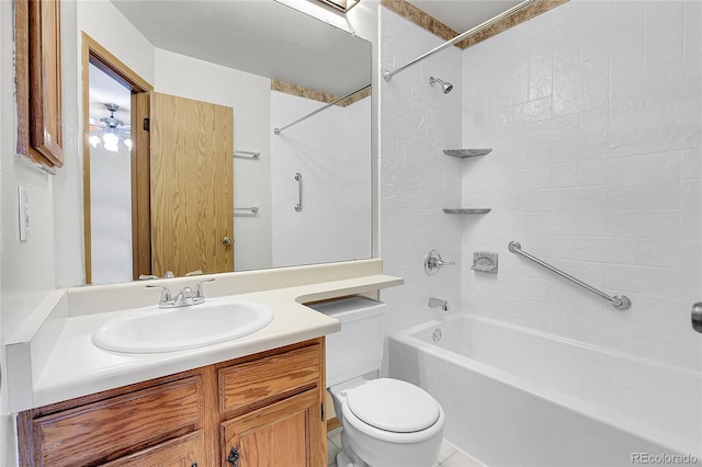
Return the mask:
<path id="1" fill-rule="evenodd" d="M 89 283 L 371 258 L 369 42 L 274 0 L 80 0 L 77 12 L 83 47 L 102 50 L 82 75 Z"/>

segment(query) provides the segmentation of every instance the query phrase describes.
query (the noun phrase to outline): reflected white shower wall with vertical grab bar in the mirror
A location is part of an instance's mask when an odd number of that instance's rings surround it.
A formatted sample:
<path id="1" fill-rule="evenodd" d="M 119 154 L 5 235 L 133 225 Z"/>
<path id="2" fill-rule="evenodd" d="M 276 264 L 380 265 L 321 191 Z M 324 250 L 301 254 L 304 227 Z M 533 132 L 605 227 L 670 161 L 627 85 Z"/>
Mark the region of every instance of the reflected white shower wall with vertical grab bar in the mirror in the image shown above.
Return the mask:
<path id="1" fill-rule="evenodd" d="M 271 94 L 274 127 L 324 105 L 282 92 Z M 364 99 L 348 107 L 331 106 L 271 136 L 273 265 L 371 255 L 370 115 L 371 100 Z M 297 172 L 303 175 L 302 212 L 295 210 Z"/>

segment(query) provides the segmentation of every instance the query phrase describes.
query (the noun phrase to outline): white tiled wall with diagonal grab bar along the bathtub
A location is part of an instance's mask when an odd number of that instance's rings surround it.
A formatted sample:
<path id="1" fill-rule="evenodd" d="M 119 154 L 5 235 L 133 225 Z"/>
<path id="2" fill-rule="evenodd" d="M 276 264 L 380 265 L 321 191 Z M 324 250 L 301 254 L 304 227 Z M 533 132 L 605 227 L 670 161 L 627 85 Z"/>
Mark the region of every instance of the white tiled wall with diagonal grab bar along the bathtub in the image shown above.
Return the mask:
<path id="1" fill-rule="evenodd" d="M 463 205 L 492 208 L 464 225 L 468 312 L 699 372 L 700 7 L 571 0 L 463 53 L 463 145 L 494 148 L 462 167 Z M 475 250 L 498 275 L 467 267 Z"/>

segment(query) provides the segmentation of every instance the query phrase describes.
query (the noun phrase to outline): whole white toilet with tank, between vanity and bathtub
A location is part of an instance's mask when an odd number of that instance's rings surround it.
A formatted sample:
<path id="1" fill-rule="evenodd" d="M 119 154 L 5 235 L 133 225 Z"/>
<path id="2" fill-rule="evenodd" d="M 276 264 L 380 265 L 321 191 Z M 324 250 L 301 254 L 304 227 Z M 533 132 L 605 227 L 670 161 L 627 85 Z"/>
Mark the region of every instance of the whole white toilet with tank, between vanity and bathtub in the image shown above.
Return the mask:
<path id="1" fill-rule="evenodd" d="M 341 321 L 327 335 L 327 388 L 343 426 L 338 467 L 429 467 L 443 440 L 443 409 L 399 379 L 366 379 L 383 360 L 385 304 L 349 297 L 312 308 Z"/>

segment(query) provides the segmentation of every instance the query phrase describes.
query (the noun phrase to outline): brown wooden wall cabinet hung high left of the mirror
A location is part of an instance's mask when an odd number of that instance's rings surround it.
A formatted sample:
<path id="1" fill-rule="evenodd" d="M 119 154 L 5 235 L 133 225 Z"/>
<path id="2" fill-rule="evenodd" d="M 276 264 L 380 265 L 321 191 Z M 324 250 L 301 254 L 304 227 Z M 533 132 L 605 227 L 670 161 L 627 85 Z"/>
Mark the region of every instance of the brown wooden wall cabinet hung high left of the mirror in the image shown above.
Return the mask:
<path id="1" fill-rule="evenodd" d="M 60 0 L 14 0 L 14 44 L 18 153 L 61 167 Z"/>

